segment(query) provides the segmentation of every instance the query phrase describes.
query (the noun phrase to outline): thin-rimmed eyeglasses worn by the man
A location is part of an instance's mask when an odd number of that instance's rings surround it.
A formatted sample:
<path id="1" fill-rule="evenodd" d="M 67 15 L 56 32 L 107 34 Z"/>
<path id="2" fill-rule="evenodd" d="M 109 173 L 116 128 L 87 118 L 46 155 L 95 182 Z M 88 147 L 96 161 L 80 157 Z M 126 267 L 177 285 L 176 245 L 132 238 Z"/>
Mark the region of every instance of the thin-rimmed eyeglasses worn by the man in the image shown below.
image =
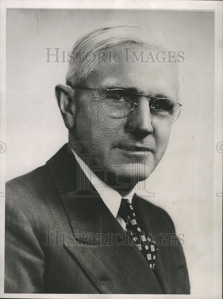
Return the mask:
<path id="1" fill-rule="evenodd" d="M 104 108 L 105 114 L 110 114 L 114 118 L 130 115 L 139 105 L 141 97 L 146 97 L 146 100 L 149 102 L 150 114 L 155 120 L 165 120 L 168 123 L 173 123 L 177 120 L 180 114 L 180 107 L 182 106 L 172 99 L 152 97 L 121 88 L 96 89 L 76 87 L 74 89 L 97 91 L 94 97 L 100 98 L 101 109 Z"/>

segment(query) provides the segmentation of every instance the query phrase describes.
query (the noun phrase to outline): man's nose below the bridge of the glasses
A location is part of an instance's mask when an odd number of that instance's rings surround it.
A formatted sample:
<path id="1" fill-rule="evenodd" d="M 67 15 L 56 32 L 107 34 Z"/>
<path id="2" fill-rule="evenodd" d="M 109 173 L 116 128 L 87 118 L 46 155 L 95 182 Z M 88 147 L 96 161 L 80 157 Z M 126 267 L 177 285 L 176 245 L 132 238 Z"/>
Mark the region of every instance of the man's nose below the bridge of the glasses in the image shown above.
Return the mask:
<path id="1" fill-rule="evenodd" d="M 129 125 L 132 127 L 133 131 L 131 132 L 137 139 L 143 139 L 147 135 L 153 133 L 153 126 L 151 123 L 151 114 L 149 101 L 147 97 L 141 97 L 138 101 L 134 113 L 130 116 L 131 120 Z"/>

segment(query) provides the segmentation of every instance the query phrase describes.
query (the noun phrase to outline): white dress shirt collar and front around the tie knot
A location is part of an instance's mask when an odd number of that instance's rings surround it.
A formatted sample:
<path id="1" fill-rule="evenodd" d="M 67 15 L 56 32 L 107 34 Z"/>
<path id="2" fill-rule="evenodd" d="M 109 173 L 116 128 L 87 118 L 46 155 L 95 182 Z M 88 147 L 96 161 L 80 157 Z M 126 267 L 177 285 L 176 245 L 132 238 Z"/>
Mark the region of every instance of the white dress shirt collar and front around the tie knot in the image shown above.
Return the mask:
<path id="1" fill-rule="evenodd" d="M 99 195 L 101 196 L 101 199 L 107 206 L 107 208 L 110 210 L 112 215 L 116 217 L 118 222 L 122 225 L 122 228 L 126 228 L 126 223 L 118 215 L 119 207 L 121 204 L 122 196 L 113 188 L 109 187 L 107 184 L 105 184 L 103 181 L 101 181 L 95 173 L 93 173 L 92 170 L 87 166 L 87 164 L 84 163 L 84 161 L 78 157 L 76 153 L 74 153 L 74 156 L 80 165 L 81 169 L 83 170 L 85 176 L 89 179 L 91 184 L 95 187 Z M 132 203 L 134 195 L 134 190 L 132 190 L 127 196 L 123 196 L 123 198 L 127 198 L 130 203 Z"/>

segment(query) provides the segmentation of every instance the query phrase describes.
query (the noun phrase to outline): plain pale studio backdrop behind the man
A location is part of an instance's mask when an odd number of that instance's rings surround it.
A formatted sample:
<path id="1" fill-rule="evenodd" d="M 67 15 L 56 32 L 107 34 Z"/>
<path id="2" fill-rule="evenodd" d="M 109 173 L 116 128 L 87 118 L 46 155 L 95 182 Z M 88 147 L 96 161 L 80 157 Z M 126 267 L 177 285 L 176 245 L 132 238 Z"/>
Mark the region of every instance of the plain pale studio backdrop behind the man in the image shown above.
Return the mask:
<path id="1" fill-rule="evenodd" d="M 147 179 L 147 200 L 184 234 L 192 294 L 213 291 L 214 13 L 161 10 L 7 10 L 6 180 L 39 167 L 67 142 L 54 95 L 68 64 L 46 48 L 70 51 L 83 34 L 131 25 L 161 32 L 185 51 L 182 111 L 166 153 Z M 62 59 L 61 59 L 62 60 Z M 52 57 L 54 61 L 54 57 Z M 144 190 L 137 192 L 147 195 Z"/>

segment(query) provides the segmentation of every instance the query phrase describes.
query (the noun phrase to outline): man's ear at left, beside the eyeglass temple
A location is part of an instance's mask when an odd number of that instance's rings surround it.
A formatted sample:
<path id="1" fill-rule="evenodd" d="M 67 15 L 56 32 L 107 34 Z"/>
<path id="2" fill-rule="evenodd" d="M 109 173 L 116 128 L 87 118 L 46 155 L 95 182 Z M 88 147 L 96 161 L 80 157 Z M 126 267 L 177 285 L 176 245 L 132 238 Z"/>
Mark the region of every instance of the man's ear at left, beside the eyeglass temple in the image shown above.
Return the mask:
<path id="1" fill-rule="evenodd" d="M 76 120 L 75 91 L 69 85 L 58 84 L 55 94 L 67 129 L 73 129 Z"/>

